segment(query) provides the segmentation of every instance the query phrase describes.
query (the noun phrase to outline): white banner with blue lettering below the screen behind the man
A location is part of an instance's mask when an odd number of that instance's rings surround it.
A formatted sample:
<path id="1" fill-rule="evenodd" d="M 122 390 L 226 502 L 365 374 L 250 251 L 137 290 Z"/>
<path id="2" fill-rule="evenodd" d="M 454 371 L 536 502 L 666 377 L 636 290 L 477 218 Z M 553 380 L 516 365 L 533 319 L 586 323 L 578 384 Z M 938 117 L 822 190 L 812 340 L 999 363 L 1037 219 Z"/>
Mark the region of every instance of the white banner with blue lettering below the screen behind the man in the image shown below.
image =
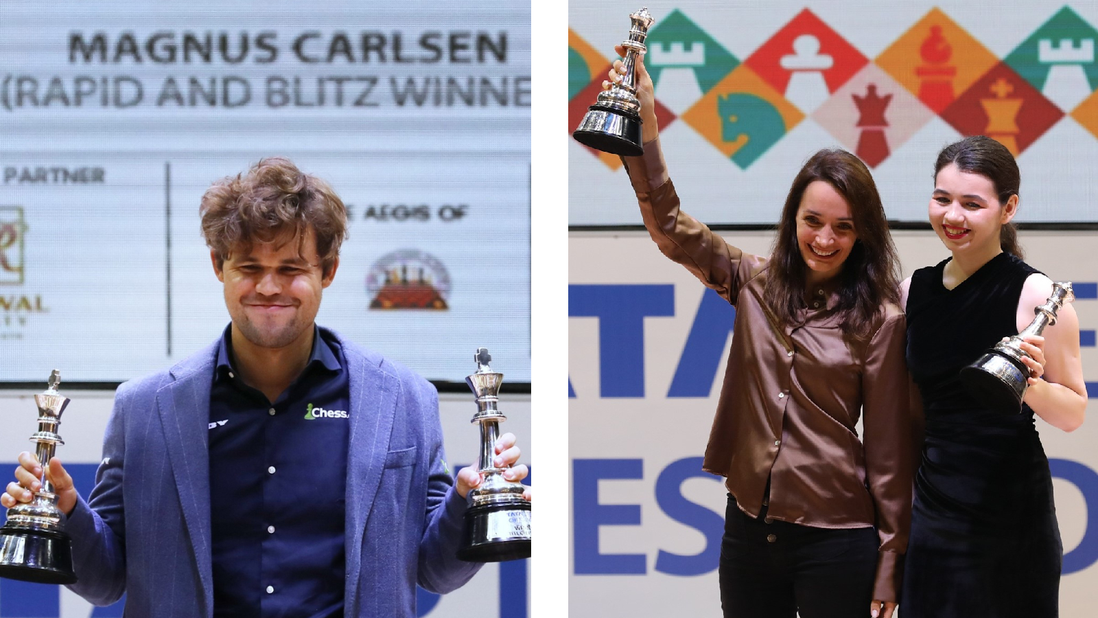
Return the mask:
<path id="1" fill-rule="evenodd" d="M 475 369 L 472 353 L 468 356 L 461 377 Z M 498 363 L 494 355 L 493 365 L 497 365 L 501 372 L 507 372 L 506 365 Z M 45 388 L 44 378 L 48 375 L 41 376 L 42 387 L 33 390 L 0 391 L 0 411 L 3 412 L 3 431 L 0 431 L 2 485 L 8 484 L 19 453 L 34 448 L 27 440 L 37 428 L 33 396 Z M 65 444 L 57 449 L 57 457 L 72 474 L 77 489 L 87 497 L 96 484 L 96 468 L 102 456 L 102 437 L 114 391 L 70 390 L 65 387 L 64 380 L 60 391 L 71 401 L 57 429 L 65 439 Z M 535 466 L 529 441 L 529 395 L 508 394 L 505 380 L 500 393 L 500 411 L 507 416 L 500 429 L 518 437 L 523 462 L 530 466 L 530 475 L 525 482 L 530 483 Z M 439 397 L 446 456 L 452 471 L 477 462 L 480 433 L 469 422 L 475 412 L 472 393 L 444 393 Z M 2 521 L 0 515 L 0 523 Z M 488 564 L 468 584 L 448 595 L 417 589 L 416 615 L 425 618 L 527 618 L 530 616 L 529 589 L 529 560 Z M 124 598 L 107 607 L 94 607 L 64 586 L 0 578 L 0 618 L 113 618 L 122 616 L 124 606 Z"/>

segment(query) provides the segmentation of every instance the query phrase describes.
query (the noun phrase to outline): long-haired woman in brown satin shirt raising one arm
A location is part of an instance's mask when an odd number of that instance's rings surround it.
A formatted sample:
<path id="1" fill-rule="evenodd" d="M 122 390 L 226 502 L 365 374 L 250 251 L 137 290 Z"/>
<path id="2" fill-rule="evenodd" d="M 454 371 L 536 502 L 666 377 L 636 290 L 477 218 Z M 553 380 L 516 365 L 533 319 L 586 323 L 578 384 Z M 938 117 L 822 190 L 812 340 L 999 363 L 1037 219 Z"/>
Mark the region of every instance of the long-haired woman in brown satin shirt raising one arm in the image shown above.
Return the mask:
<path id="1" fill-rule="evenodd" d="M 850 153 L 816 153 L 772 254 L 743 253 L 680 210 L 639 59 L 636 73 L 645 154 L 624 161 L 645 227 L 737 309 L 704 460 L 729 493 L 725 616 L 892 616 L 912 444 L 897 257 L 873 178 Z"/>

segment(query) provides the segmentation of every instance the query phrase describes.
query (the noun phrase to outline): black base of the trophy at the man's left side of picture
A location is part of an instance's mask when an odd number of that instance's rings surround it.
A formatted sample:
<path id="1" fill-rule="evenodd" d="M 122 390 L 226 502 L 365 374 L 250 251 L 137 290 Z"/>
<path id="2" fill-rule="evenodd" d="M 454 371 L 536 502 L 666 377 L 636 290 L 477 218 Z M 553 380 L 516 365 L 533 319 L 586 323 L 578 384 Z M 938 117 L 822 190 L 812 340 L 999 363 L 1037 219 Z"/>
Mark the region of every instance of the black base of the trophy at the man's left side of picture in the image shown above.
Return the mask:
<path id="1" fill-rule="evenodd" d="M 0 528 L 0 577 L 36 584 L 75 584 L 71 541 L 61 532 Z"/>

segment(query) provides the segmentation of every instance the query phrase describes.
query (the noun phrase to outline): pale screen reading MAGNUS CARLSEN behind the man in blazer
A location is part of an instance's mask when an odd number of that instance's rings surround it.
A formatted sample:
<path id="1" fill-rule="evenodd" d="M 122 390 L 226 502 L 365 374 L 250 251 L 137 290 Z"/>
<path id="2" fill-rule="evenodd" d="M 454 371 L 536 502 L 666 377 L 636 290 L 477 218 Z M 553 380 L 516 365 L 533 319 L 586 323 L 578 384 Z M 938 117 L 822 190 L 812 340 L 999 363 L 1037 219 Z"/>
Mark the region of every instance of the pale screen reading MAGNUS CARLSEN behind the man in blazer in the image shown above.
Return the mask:
<path id="1" fill-rule="evenodd" d="M 530 8 L 0 4 L 0 385 L 122 382 L 228 323 L 199 232 L 265 156 L 348 240 L 317 321 L 434 380 L 530 380 Z"/>

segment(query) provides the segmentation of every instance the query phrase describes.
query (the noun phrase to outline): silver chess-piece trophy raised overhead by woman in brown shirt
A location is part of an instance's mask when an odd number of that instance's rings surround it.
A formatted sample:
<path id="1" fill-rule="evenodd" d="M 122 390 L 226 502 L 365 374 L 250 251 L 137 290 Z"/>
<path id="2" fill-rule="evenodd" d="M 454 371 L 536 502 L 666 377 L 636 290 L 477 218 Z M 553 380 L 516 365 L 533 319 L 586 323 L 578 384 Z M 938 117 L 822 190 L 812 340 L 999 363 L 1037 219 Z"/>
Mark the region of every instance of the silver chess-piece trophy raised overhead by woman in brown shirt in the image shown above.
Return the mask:
<path id="1" fill-rule="evenodd" d="M 580 126 L 572 133 L 576 142 L 596 151 L 623 156 L 645 154 L 640 136 L 640 101 L 637 100 L 635 68 L 637 56 L 645 53 L 645 37 L 652 25 L 652 15 L 643 8 L 629 15 L 629 29 L 625 47 L 625 75 L 598 93 L 595 104 L 587 108 Z"/>

